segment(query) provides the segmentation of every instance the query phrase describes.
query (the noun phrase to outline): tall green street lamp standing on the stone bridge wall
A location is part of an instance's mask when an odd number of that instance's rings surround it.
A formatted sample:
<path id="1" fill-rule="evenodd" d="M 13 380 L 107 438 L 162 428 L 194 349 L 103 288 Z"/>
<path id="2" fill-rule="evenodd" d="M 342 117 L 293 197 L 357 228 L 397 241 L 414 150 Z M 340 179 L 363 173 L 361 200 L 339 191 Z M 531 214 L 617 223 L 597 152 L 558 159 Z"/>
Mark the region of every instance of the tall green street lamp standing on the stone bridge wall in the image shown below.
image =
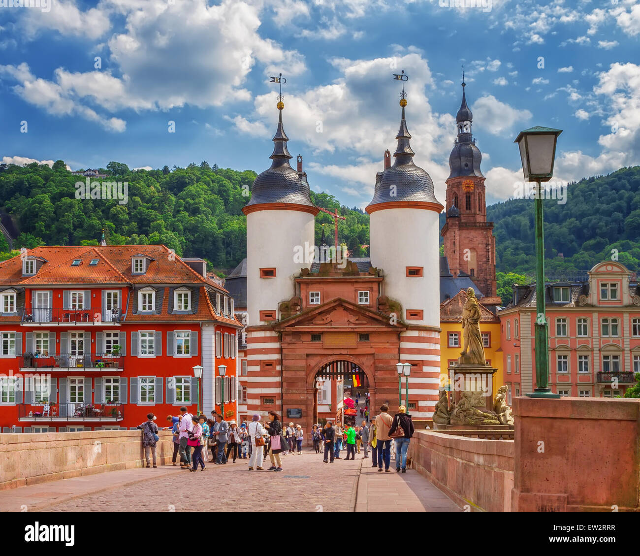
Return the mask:
<path id="1" fill-rule="evenodd" d="M 545 234 L 542 206 L 542 184 L 554 174 L 556 143 L 562 129 L 531 127 L 520 131 L 514 143 L 520 148 L 525 181 L 537 183 L 535 195 L 536 218 L 536 389 L 530 398 L 559 398 L 548 387 L 548 325 L 545 315 Z"/>

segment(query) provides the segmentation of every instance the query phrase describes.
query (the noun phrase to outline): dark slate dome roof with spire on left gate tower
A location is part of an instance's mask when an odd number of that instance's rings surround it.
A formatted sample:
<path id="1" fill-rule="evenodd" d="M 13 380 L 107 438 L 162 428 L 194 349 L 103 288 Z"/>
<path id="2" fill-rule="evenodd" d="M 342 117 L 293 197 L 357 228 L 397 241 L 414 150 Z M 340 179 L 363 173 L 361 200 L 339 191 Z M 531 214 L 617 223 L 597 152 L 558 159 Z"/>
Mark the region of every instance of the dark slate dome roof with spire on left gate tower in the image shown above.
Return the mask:
<path id="1" fill-rule="evenodd" d="M 244 206 L 243 212 L 251 212 L 251 207 L 257 209 L 257 205 L 284 203 L 297 205 L 298 208 L 308 207 L 308 212 L 317 214 L 318 209 L 311 201 L 307 176 L 304 172 L 296 172 L 289 159 L 291 154 L 287 151 L 289 138 L 284 133 L 282 126 L 282 110 L 278 116 L 278 129 L 273 136 L 273 153 L 271 153 L 271 167 L 264 170 L 254 181 L 251 188 L 251 199 Z"/>

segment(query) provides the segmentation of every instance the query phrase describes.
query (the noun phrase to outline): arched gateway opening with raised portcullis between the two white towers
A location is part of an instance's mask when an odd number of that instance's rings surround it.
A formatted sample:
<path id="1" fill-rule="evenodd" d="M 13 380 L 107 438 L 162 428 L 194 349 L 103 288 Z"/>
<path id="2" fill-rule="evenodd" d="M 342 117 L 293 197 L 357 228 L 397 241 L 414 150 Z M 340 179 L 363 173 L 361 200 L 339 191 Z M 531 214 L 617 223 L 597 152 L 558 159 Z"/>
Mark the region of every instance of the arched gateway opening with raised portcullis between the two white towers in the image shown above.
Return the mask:
<path id="1" fill-rule="evenodd" d="M 335 359 L 322 364 L 316 372 L 314 386 L 314 423 L 324 426 L 327 420 L 332 420 L 356 424 L 369 418 L 369 379 L 355 361 Z"/>

